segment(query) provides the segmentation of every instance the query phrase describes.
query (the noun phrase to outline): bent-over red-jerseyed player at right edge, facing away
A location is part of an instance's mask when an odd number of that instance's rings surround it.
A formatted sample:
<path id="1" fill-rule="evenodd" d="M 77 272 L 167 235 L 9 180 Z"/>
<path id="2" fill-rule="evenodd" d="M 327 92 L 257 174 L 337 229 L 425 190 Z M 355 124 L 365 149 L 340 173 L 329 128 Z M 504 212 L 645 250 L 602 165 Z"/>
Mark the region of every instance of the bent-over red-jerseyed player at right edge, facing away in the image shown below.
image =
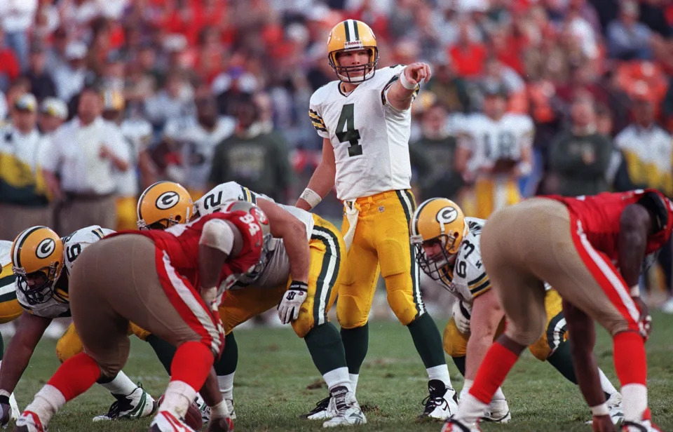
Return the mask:
<path id="1" fill-rule="evenodd" d="M 595 373 L 593 320 L 613 338 L 622 430 L 660 431 L 647 405 L 644 343 L 651 317 L 639 297 L 638 278 L 672 227 L 673 204 L 655 189 L 531 198 L 494 213 L 482 231 L 482 258 L 508 326 L 443 431 L 479 430 L 477 420 L 496 389 L 543 331 L 544 281 L 564 299 L 577 378 L 594 415 L 594 431 L 614 429 Z"/>

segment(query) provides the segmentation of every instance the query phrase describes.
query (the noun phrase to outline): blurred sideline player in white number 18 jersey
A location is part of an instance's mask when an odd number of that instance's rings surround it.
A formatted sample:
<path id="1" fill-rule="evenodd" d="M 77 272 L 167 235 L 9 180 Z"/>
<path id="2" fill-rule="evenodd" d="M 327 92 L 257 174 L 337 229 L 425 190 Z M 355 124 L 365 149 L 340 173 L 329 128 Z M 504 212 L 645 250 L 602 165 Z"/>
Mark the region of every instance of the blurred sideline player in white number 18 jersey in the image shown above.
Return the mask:
<path id="1" fill-rule="evenodd" d="M 524 114 L 505 112 L 507 94 L 500 86 L 485 86 L 484 112 L 470 114 L 458 128 L 455 168 L 474 182 L 475 210 L 486 219 L 491 212 L 521 201 L 518 180 L 533 169 L 535 129 Z M 470 199 L 466 200 L 470 201 Z"/>

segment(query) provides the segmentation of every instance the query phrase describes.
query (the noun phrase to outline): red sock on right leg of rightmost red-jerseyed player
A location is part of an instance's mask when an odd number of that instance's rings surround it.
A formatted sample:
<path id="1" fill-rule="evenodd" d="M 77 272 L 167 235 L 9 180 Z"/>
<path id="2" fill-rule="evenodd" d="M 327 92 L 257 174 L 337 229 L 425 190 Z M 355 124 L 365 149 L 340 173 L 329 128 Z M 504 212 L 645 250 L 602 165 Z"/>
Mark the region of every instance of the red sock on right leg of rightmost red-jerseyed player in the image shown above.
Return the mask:
<path id="1" fill-rule="evenodd" d="M 622 386 L 626 384 L 646 384 L 647 358 L 645 341 L 636 332 L 621 332 L 613 339 L 615 371 Z"/>

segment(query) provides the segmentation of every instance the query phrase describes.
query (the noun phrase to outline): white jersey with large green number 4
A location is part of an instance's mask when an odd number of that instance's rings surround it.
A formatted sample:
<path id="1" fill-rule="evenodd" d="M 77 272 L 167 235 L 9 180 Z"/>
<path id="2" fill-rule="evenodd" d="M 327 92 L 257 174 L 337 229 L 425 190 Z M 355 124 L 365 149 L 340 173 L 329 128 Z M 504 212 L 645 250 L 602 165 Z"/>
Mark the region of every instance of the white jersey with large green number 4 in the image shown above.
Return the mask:
<path id="1" fill-rule="evenodd" d="M 341 81 L 332 81 L 311 96 L 311 123 L 334 147 L 340 200 L 410 187 L 411 109 L 400 111 L 386 100 L 404 68 L 379 69 L 348 94 Z"/>

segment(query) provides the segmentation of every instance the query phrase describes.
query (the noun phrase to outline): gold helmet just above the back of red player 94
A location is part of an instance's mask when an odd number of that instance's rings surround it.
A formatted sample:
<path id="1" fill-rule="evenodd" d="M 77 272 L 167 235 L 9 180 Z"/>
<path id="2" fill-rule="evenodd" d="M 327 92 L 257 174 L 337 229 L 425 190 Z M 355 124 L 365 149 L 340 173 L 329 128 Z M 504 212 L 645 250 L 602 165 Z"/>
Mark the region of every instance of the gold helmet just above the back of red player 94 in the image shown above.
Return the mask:
<path id="1" fill-rule="evenodd" d="M 194 212 L 187 189 L 175 182 L 156 182 L 138 199 L 139 229 L 166 229 L 186 224 Z"/>

